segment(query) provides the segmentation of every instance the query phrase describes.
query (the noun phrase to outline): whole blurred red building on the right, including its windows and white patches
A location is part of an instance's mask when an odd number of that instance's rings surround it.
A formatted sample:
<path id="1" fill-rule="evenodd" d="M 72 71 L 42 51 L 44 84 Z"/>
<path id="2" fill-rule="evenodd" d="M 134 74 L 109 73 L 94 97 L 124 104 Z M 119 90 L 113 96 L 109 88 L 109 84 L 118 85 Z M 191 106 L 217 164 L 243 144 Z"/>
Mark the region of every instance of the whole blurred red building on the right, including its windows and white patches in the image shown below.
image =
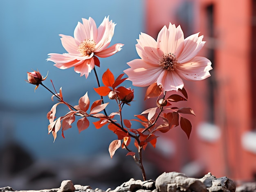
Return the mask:
<path id="1" fill-rule="evenodd" d="M 211 77 L 185 82 L 196 117 L 190 139 L 175 127 L 157 141 L 151 159 L 161 171 L 188 176 L 256 177 L 256 0 L 147 0 L 146 33 L 156 39 L 164 25 L 181 25 L 185 38 L 204 35 L 201 56 Z"/>

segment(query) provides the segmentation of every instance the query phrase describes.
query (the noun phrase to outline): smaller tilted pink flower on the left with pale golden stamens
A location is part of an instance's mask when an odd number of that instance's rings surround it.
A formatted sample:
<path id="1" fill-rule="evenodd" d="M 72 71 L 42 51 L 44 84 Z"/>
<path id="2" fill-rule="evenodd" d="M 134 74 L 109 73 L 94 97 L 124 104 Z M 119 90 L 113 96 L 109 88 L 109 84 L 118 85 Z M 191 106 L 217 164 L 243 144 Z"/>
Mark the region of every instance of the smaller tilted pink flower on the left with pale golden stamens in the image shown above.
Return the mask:
<path id="1" fill-rule="evenodd" d="M 61 36 L 61 43 L 68 53 L 49 53 L 47 61 L 54 62 L 54 66 L 66 69 L 74 66 L 76 73 L 81 73 L 87 78 L 94 68 L 99 66 L 96 57 L 109 57 L 121 50 L 124 44 L 114 44 L 110 47 L 110 41 L 114 35 L 115 23 L 104 18 L 98 27 L 92 18 L 82 18 L 83 24 L 78 22 L 74 30 L 74 38 L 69 35 Z M 108 47 L 108 48 L 107 48 Z"/>

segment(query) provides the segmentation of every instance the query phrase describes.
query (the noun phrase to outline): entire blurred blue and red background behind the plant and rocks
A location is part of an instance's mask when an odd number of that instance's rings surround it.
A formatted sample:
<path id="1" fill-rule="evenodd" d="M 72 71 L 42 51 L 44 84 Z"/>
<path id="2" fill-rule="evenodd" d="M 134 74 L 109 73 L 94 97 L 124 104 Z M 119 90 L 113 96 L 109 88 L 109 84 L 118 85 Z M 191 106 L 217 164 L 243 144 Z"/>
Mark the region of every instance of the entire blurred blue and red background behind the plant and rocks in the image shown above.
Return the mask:
<path id="1" fill-rule="evenodd" d="M 99 76 L 110 68 L 117 77 L 128 68 L 127 62 L 139 58 L 135 50 L 139 33 L 156 39 L 169 22 L 180 24 L 185 37 L 200 32 L 207 41 L 200 55 L 211 60 L 212 76 L 185 82 L 189 101 L 179 104 L 197 115 L 188 117 L 190 139 L 175 127 L 161 135 L 156 149 L 147 148 L 148 179 L 178 171 L 189 177 L 211 172 L 236 181 L 255 180 L 256 0 L 1 0 L 0 187 L 58 188 L 61 181 L 71 179 L 74 184 L 106 190 L 131 177 L 142 179 L 125 150 L 117 150 L 110 159 L 108 146 L 117 138 L 107 127 L 90 126 L 79 134 L 73 124 L 64 132 L 65 139 L 58 134 L 53 143 L 46 114 L 56 102 L 42 86 L 34 92 L 34 86 L 25 82 L 31 69 L 44 76 L 49 71 L 44 84 L 52 88 L 52 79 L 70 104 L 76 105 L 87 91 L 89 98 L 98 97 L 92 89 L 97 86 L 93 72 L 85 79 L 73 68 L 60 70 L 46 59 L 48 53 L 65 53 L 58 34 L 73 36 L 81 18 L 92 17 L 99 26 L 108 15 L 117 23 L 111 44 L 124 46 L 100 59 Z M 144 93 L 144 88 L 135 88 L 135 102 L 124 108 L 126 119 L 155 102 L 144 103 Z M 67 110 L 58 106 L 56 116 Z"/>

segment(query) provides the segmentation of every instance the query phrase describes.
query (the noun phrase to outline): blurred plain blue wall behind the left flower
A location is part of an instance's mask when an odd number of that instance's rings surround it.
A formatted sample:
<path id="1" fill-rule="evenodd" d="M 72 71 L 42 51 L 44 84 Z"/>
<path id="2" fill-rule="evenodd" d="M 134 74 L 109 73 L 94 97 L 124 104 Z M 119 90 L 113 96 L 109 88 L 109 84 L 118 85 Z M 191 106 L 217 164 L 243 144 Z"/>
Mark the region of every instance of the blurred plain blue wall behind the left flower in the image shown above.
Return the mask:
<path id="1" fill-rule="evenodd" d="M 47 62 L 48 53 L 65 53 L 58 34 L 74 35 L 74 28 L 81 18 L 92 17 L 97 26 L 105 16 L 117 23 L 111 44 L 123 43 L 123 50 L 112 57 L 101 58 L 99 76 L 107 68 L 116 77 L 138 58 L 136 39 L 144 31 L 143 1 L 138 0 L 1 0 L 0 1 L 0 147 L 16 141 L 31 152 L 35 158 L 88 156 L 98 151 L 108 152 L 108 145 L 117 137 L 107 127 L 96 130 L 90 126 L 80 134 L 74 124 L 65 131 L 65 139 L 58 137 L 53 143 L 48 135 L 47 112 L 55 102 L 45 88 L 27 84 L 27 72 L 38 69 L 42 75 L 49 71 L 45 85 L 52 88 L 50 79 L 58 90 L 62 86 L 64 99 L 72 105 L 88 91 L 92 100 L 99 97 L 92 86 L 97 87 L 94 73 L 88 79 L 79 77 L 73 68 L 61 70 Z M 125 86 L 131 86 L 126 81 Z M 135 88 L 135 100 L 129 108 L 141 113 L 141 89 Z M 95 98 L 96 97 L 96 98 Z M 63 109 L 63 110 L 61 110 Z M 117 108 L 111 109 L 116 111 Z M 67 108 L 57 112 L 66 113 Z M 63 115 L 58 113 L 57 116 Z M 132 118 L 132 114 L 127 114 Z"/>

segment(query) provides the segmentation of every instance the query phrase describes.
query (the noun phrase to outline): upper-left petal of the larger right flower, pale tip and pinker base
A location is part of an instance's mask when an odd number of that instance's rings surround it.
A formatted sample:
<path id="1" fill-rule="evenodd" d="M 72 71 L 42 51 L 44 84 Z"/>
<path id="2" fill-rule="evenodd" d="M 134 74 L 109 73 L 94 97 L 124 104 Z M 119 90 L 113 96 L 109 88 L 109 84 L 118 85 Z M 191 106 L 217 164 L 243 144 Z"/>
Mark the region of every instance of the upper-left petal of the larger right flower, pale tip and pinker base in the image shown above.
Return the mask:
<path id="1" fill-rule="evenodd" d="M 162 57 L 163 52 L 158 51 L 155 39 L 146 33 L 141 33 L 137 42 L 136 50 L 139 57 L 146 62 L 157 64 Z"/>

